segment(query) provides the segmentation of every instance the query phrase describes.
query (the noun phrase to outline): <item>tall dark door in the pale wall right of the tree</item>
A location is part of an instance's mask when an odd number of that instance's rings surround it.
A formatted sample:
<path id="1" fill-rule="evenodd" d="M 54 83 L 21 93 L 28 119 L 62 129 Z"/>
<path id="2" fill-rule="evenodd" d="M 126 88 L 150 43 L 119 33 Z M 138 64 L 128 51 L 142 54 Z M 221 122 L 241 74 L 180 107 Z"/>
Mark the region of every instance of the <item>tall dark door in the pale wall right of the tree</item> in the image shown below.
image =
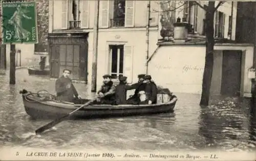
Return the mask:
<path id="1" fill-rule="evenodd" d="M 223 51 L 221 94 L 239 96 L 242 51 Z"/>

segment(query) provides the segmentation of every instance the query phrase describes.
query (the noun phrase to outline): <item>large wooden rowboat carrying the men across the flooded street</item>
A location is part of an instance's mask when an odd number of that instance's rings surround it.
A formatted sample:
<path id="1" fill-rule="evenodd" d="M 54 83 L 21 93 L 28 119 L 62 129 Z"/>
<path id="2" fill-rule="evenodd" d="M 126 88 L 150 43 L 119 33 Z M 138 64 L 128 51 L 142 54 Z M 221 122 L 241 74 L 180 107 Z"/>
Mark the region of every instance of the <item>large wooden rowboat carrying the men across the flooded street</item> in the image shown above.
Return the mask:
<path id="1" fill-rule="evenodd" d="M 27 114 L 33 119 L 56 119 L 72 112 L 82 104 L 59 102 L 54 100 L 40 101 L 30 92 L 20 92 Z M 173 96 L 167 103 L 152 105 L 89 105 L 74 112 L 69 119 L 91 119 L 105 117 L 125 117 L 146 114 L 174 112 L 177 97 Z M 84 103 L 89 100 L 84 99 Z"/>

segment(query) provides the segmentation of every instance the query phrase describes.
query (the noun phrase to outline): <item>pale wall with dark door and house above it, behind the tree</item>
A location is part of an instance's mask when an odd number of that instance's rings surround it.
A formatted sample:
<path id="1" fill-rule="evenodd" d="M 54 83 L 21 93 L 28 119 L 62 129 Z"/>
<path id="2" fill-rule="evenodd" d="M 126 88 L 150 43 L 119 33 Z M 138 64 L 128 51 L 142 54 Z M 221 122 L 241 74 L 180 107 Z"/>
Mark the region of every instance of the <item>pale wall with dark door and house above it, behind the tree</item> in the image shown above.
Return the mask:
<path id="1" fill-rule="evenodd" d="M 158 50 L 148 63 L 148 72 L 156 82 L 161 82 L 172 91 L 195 94 L 201 94 L 202 91 L 206 39 L 205 10 L 201 7 L 207 6 L 207 2 L 201 1 L 199 5 L 187 2 L 183 12 L 175 13 L 176 18 L 188 22 L 187 38 L 184 41 L 174 38 L 168 42 L 159 42 Z M 237 2 L 225 2 L 215 13 L 216 42 L 211 95 L 251 96 L 248 68 L 252 66 L 253 45 L 235 41 L 236 17 Z M 160 56 L 163 53 L 164 56 Z M 169 79 L 161 75 L 169 75 Z"/>

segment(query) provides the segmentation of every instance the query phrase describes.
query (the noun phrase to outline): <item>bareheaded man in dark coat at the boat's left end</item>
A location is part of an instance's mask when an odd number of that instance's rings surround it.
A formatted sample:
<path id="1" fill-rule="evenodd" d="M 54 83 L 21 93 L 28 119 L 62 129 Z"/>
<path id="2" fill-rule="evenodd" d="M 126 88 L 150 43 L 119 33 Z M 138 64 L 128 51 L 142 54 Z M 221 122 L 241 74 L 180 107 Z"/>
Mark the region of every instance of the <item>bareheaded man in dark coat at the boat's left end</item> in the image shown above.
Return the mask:
<path id="1" fill-rule="evenodd" d="M 57 93 L 57 100 L 65 102 L 73 102 L 75 98 L 80 99 L 76 88 L 74 87 L 72 80 L 69 78 L 71 74 L 70 70 L 63 70 L 62 76 L 55 82 L 55 89 Z"/>

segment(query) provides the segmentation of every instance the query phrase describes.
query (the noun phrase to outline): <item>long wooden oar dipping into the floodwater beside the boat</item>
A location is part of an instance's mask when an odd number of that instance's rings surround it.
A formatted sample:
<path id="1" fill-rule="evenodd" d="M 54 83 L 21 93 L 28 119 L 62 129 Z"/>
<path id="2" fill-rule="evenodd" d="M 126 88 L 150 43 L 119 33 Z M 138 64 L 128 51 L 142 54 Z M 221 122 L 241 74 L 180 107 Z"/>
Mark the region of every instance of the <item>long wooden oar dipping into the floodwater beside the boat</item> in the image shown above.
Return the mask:
<path id="1" fill-rule="evenodd" d="M 94 102 L 97 98 L 91 100 L 91 101 L 88 101 L 87 103 L 83 104 L 82 106 L 78 107 L 77 109 L 73 110 L 72 112 L 70 112 L 69 114 L 61 117 L 61 118 L 57 118 L 56 120 L 53 120 L 52 122 L 50 122 L 49 124 L 45 125 L 45 126 L 42 126 L 40 127 L 39 129 L 35 130 L 35 133 L 38 134 L 38 133 L 41 133 L 41 132 L 44 132 L 45 130 L 47 129 L 50 129 L 52 128 L 53 126 L 55 126 L 56 124 L 60 123 L 61 121 L 65 120 L 66 118 L 68 118 L 69 116 L 71 116 L 71 114 L 73 114 L 74 112 L 78 111 L 79 109 L 81 109 L 82 107 L 84 106 L 88 106 L 90 105 L 92 102 Z"/>

